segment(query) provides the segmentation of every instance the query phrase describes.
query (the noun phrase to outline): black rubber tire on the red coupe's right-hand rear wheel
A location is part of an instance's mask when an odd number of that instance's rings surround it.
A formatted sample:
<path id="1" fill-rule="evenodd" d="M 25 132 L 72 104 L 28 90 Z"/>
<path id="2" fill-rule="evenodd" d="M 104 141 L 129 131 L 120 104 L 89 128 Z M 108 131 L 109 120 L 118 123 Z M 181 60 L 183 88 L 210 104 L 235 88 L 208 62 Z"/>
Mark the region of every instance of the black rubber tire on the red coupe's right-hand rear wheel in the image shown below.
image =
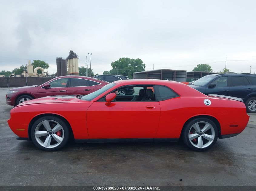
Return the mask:
<path id="1" fill-rule="evenodd" d="M 205 132 L 207 132 L 207 134 L 206 133 L 202 133 L 202 131 L 198 133 L 192 127 L 194 124 L 198 123 L 198 126 L 200 127 L 200 130 L 202 130 L 203 127 L 204 127 L 204 123 L 199 123 L 199 122 L 205 122 L 205 123 L 208 123 L 208 124 L 211 125 L 212 128 L 207 130 L 207 131 L 205 131 Z M 192 133 L 191 131 L 193 131 L 193 130 L 194 130 L 194 132 Z M 212 132 L 212 131 L 214 131 L 214 132 Z M 207 140 L 206 138 L 204 138 L 205 135 L 209 134 L 209 132 L 211 132 L 211 135 L 210 135 L 212 137 L 212 141 L 211 142 L 209 140 Z M 196 136 L 191 141 L 189 140 L 189 135 L 190 134 L 194 134 Z M 203 134 L 205 134 L 205 135 L 203 135 Z M 199 138 L 200 138 L 200 140 L 202 140 L 202 142 L 205 142 L 205 147 L 203 146 L 204 143 L 202 145 L 202 148 L 198 148 L 197 147 L 198 146 L 197 144 L 199 144 Z M 218 139 L 218 129 L 217 129 L 217 126 L 214 124 L 214 122 L 211 121 L 210 119 L 207 119 L 207 118 L 196 118 L 196 119 L 193 119 L 193 120 L 191 120 L 191 121 L 189 121 L 188 123 L 185 124 L 183 132 L 182 132 L 182 139 L 183 139 L 185 145 L 187 145 L 192 150 L 194 150 L 194 151 L 206 151 L 206 150 L 211 148 L 216 143 L 216 141 Z"/>

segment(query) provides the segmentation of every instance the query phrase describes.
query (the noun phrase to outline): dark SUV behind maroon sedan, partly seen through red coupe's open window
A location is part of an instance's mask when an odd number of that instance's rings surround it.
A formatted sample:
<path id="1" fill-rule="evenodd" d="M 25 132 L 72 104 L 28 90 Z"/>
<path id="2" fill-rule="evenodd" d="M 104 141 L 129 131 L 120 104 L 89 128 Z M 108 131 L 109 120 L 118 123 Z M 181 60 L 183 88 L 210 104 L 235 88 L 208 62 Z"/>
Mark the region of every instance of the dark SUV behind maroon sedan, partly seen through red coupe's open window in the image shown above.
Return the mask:
<path id="1" fill-rule="evenodd" d="M 93 78 L 101 79 L 108 82 L 114 82 L 117 80 L 129 80 L 128 76 L 122 76 L 122 75 L 97 75 Z M 123 88 L 118 91 L 120 95 L 132 95 L 134 94 L 134 89 L 131 87 Z"/>

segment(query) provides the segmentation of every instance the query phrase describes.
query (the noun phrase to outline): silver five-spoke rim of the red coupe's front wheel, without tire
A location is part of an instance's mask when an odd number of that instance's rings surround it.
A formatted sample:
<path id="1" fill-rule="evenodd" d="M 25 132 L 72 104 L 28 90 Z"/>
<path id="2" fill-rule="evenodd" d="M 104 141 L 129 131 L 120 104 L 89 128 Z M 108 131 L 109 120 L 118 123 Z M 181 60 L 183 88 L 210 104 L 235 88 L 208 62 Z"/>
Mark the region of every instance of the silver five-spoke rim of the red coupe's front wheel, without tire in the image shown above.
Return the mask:
<path id="1" fill-rule="evenodd" d="M 55 148 L 64 139 L 63 127 L 54 120 L 44 120 L 35 128 L 35 140 L 45 148 Z"/>

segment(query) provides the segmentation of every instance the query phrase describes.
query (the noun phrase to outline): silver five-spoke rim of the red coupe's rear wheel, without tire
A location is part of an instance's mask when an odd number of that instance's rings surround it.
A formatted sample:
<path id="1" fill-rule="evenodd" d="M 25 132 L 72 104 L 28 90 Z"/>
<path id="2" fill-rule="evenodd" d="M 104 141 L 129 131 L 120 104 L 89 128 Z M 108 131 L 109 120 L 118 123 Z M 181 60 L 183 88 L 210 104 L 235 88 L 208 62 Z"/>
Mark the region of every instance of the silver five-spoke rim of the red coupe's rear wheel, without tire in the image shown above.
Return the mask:
<path id="1" fill-rule="evenodd" d="M 212 144 L 215 131 L 210 123 L 200 121 L 191 126 L 188 132 L 190 143 L 196 148 L 206 148 Z"/>

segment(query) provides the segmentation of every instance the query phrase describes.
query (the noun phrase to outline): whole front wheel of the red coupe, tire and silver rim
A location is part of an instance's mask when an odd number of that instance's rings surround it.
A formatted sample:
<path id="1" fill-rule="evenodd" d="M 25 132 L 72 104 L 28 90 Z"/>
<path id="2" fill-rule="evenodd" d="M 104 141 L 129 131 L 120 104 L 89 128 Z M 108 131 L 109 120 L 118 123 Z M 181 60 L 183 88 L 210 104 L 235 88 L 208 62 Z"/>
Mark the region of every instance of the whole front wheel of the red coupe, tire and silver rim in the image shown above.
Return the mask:
<path id="1" fill-rule="evenodd" d="M 56 151 L 67 143 L 66 123 L 55 116 L 44 116 L 35 121 L 31 129 L 32 142 L 44 151 Z"/>

